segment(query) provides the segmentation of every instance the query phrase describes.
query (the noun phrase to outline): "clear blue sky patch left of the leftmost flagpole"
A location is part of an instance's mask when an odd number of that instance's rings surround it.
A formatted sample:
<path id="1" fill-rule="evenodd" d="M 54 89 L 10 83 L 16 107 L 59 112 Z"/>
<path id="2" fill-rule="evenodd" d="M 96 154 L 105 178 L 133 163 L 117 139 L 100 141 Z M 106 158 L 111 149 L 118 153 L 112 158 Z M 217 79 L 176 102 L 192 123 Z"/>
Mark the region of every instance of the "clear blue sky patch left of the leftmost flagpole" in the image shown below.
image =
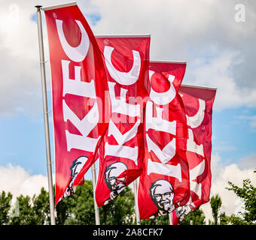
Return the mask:
<path id="1" fill-rule="evenodd" d="M 0 127 L 1 165 L 23 166 L 31 174 L 46 175 L 44 121 L 41 116 L 2 117 Z M 52 134 L 50 134 L 52 136 Z"/>

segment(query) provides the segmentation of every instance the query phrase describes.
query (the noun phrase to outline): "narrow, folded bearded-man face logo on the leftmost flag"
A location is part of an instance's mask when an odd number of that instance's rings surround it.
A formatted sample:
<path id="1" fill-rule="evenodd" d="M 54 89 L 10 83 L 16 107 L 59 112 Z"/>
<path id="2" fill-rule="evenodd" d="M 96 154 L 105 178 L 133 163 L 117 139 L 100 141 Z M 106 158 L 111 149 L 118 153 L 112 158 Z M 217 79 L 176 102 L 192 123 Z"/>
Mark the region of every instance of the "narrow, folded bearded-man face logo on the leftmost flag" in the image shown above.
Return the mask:
<path id="1" fill-rule="evenodd" d="M 66 196 L 71 196 L 75 192 L 75 187 L 73 186 L 73 183 L 75 181 L 75 178 L 77 177 L 78 173 L 81 171 L 81 169 L 84 166 L 84 163 L 86 163 L 88 157 L 81 156 L 78 157 L 76 160 L 73 161 L 72 166 L 70 166 L 70 175 L 71 179 L 69 181 L 69 186 L 67 187 L 65 193 L 63 194 L 62 198 L 65 198 Z"/>

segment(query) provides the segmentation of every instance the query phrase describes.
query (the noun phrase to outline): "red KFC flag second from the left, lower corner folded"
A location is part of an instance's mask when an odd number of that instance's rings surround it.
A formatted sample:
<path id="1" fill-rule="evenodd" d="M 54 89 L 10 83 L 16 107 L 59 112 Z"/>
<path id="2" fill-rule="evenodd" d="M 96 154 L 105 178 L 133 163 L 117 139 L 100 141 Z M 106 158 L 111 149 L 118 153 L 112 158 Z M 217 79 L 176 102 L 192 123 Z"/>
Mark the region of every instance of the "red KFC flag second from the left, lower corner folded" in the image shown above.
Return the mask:
<path id="1" fill-rule="evenodd" d="M 111 120 L 99 147 L 96 202 L 111 201 L 142 172 L 149 36 L 96 37 L 108 77 Z"/>

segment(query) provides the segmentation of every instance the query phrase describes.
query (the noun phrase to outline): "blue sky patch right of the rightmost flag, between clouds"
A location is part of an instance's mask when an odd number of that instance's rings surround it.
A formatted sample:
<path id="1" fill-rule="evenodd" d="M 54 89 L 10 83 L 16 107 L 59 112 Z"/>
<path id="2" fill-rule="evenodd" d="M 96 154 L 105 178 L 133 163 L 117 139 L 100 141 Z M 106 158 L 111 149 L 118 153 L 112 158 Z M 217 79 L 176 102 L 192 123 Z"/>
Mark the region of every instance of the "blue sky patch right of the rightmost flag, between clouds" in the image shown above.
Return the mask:
<path id="1" fill-rule="evenodd" d="M 218 152 L 224 163 L 237 163 L 242 157 L 256 153 L 256 127 L 242 116 L 256 114 L 256 109 L 238 108 L 215 111 L 212 117 L 212 154 Z"/>

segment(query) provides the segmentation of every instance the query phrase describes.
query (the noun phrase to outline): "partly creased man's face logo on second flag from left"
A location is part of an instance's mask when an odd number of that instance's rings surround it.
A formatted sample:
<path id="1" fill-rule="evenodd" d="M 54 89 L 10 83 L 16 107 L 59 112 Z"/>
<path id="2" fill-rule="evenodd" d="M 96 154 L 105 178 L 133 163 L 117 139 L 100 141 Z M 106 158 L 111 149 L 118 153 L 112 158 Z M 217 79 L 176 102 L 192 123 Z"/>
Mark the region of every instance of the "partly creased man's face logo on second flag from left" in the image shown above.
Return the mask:
<path id="1" fill-rule="evenodd" d="M 111 190 L 111 196 L 117 196 L 123 187 L 126 186 L 125 178 L 117 178 L 122 172 L 127 169 L 126 164 L 122 162 L 112 163 L 105 169 L 105 183 L 109 190 Z M 112 199 L 111 197 L 111 199 Z"/>

